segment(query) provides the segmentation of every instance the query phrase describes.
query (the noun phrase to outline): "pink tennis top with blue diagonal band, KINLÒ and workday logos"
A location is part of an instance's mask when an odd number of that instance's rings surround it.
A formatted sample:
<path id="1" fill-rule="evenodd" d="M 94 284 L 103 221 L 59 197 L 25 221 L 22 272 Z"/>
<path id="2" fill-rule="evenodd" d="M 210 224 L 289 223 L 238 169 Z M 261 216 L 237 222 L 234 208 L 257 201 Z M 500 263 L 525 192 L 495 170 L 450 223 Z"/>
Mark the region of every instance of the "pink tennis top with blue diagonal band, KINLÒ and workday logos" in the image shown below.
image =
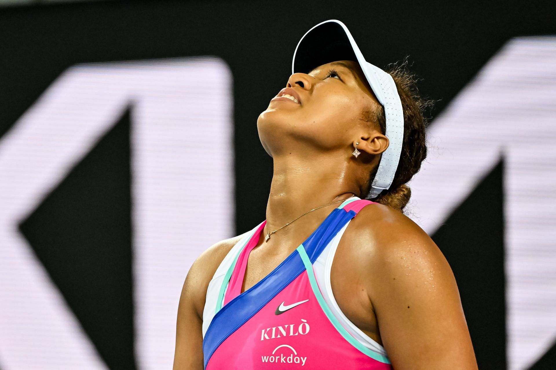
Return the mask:
<path id="1" fill-rule="evenodd" d="M 214 297 L 207 293 L 209 306 L 203 314 L 205 369 L 392 369 L 385 353 L 365 347 L 332 314 L 313 266 L 340 229 L 373 203 L 347 199 L 279 266 L 243 293 L 247 258 L 266 220 L 235 251 L 232 248 L 235 253 L 227 258 L 234 261 L 207 291 Z M 216 304 L 211 306 L 211 299 Z"/>

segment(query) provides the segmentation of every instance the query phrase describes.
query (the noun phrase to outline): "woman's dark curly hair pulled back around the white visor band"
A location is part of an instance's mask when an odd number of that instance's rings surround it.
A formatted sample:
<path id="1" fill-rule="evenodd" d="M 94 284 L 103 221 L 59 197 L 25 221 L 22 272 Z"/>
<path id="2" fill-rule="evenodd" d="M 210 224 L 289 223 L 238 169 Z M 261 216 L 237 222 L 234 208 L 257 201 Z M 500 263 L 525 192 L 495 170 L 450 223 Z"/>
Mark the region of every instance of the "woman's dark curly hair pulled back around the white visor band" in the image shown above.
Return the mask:
<path id="1" fill-rule="evenodd" d="M 401 147 L 400 161 L 398 169 L 394 175 L 394 180 L 389 189 L 383 190 L 378 197 L 374 198 L 374 202 L 386 204 L 400 212 L 404 212 L 405 206 L 411 197 L 411 189 L 406 183 L 419 172 L 421 162 L 426 158 L 426 134 L 425 129 L 428 124 L 428 118 L 425 112 L 433 107 L 434 101 L 425 100 L 419 96 L 415 83 L 418 81 L 415 74 L 406 70 L 408 57 L 403 62 L 391 63 L 385 69 L 392 76 L 400 95 L 401 105 L 404 111 L 404 139 Z M 379 109 L 365 110 L 362 113 L 362 119 L 366 122 L 376 122 L 380 126 L 380 132 L 386 132 L 386 117 L 384 107 Z M 370 172 L 368 183 L 365 191 L 360 198 L 368 198 L 371 191 L 371 184 L 378 171 L 375 166 Z"/>

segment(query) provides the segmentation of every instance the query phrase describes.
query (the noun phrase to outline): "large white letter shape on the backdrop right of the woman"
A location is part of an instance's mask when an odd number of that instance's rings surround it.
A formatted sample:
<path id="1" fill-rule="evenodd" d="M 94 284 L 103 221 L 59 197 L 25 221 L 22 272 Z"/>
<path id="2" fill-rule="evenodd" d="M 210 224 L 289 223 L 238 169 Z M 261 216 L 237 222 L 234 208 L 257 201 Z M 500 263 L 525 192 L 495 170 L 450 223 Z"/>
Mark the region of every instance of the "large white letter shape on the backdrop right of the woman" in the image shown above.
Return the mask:
<path id="1" fill-rule="evenodd" d="M 526 369 L 556 338 L 556 37 L 507 43 L 428 135 L 409 185 L 429 234 L 504 158 L 508 367 Z"/>

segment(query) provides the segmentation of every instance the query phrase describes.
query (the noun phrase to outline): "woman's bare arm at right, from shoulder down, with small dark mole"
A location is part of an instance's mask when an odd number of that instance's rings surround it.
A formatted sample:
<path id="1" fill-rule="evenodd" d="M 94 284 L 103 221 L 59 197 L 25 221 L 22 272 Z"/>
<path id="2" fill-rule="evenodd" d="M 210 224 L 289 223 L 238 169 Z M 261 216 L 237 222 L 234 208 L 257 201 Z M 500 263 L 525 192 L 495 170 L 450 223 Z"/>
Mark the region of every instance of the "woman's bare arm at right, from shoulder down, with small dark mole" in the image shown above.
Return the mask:
<path id="1" fill-rule="evenodd" d="M 476 370 L 454 274 L 408 217 L 375 219 L 366 287 L 395 370 Z"/>

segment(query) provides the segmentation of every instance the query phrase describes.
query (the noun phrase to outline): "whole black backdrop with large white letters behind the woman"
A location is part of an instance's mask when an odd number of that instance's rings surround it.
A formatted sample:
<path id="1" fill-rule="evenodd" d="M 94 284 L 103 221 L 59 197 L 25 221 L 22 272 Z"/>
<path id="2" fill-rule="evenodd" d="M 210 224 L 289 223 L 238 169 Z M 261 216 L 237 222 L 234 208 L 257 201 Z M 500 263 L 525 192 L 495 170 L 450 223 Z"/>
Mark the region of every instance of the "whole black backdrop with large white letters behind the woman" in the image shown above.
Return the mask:
<path id="1" fill-rule="evenodd" d="M 409 56 L 436 101 L 409 216 L 454 271 L 479 368 L 556 366 L 553 2 L 10 5 L 0 369 L 171 368 L 191 263 L 264 220 L 256 119 L 331 18 L 377 66 Z"/>

